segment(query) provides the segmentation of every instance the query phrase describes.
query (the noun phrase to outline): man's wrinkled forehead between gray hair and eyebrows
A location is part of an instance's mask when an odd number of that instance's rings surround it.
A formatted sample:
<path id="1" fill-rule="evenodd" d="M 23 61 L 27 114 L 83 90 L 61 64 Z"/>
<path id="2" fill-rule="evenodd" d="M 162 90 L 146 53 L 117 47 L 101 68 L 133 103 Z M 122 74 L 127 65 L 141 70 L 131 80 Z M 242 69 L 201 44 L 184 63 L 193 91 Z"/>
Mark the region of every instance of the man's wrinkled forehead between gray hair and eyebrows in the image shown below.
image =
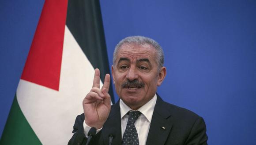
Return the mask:
<path id="1" fill-rule="evenodd" d="M 156 50 L 151 45 L 124 44 L 117 51 L 117 59 L 120 58 L 149 58 L 154 59 Z"/>

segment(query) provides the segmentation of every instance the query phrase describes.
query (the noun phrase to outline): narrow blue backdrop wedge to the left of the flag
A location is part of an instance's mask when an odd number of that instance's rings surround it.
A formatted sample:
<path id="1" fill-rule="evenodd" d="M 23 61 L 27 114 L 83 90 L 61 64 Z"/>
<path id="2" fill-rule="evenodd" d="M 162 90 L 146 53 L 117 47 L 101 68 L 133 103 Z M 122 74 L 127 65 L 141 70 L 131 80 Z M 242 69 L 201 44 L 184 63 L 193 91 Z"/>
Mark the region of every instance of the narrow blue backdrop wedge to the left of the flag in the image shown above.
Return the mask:
<path id="1" fill-rule="evenodd" d="M 0 137 L 44 0 L 0 0 Z"/>

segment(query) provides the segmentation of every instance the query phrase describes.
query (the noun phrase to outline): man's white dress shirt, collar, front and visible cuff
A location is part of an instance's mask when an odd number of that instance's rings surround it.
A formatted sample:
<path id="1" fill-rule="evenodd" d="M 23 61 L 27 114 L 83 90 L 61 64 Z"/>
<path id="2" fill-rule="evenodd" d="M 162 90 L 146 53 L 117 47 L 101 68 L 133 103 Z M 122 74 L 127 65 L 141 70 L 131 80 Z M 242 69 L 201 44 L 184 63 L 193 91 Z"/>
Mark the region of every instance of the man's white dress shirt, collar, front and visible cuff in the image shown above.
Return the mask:
<path id="1" fill-rule="evenodd" d="M 147 135 L 150 128 L 153 112 L 154 112 L 154 106 L 156 104 L 156 94 L 154 97 L 148 101 L 145 105 L 140 107 L 138 110 L 132 110 L 128 105 L 124 104 L 124 102 L 120 99 L 120 115 L 121 115 L 121 133 L 122 138 L 124 135 L 124 131 L 128 122 L 128 112 L 129 111 L 139 111 L 141 112 L 141 115 L 138 117 L 136 122 L 134 123 L 135 128 L 138 133 L 139 137 L 139 145 L 146 145 L 147 141 Z M 84 128 L 84 134 L 87 137 L 87 134 L 91 127 L 89 127 L 85 122 L 83 122 L 83 128 Z M 96 131 L 96 134 L 102 130 L 102 128 L 98 129 Z"/>

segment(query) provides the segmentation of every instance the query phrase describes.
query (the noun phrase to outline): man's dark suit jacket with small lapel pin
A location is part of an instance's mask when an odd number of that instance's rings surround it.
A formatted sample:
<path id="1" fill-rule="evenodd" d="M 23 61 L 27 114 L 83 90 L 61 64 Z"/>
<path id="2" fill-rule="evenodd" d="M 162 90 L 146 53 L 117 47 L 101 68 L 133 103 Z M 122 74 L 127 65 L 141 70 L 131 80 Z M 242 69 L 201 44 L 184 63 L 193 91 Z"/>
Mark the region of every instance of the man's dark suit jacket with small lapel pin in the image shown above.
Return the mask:
<path id="1" fill-rule="evenodd" d="M 109 117 L 102 130 L 90 145 L 109 145 L 109 134 L 114 134 L 112 145 L 121 145 L 119 101 L 111 106 Z M 85 145 L 84 115 L 76 117 L 74 134 L 68 145 Z M 171 105 L 157 95 L 146 145 L 207 145 L 206 126 L 203 118 L 187 109 Z"/>

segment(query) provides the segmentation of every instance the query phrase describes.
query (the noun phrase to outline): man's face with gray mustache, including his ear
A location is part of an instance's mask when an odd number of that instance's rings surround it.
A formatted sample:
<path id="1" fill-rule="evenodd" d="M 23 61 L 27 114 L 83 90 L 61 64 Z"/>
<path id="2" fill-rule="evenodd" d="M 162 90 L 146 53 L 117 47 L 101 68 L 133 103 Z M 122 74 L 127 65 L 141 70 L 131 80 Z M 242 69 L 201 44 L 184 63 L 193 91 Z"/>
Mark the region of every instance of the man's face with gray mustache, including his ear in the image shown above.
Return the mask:
<path id="1" fill-rule="evenodd" d="M 150 45 L 123 44 L 112 65 L 113 82 L 119 97 L 136 110 L 150 101 L 166 76 L 158 71 L 156 50 Z"/>

